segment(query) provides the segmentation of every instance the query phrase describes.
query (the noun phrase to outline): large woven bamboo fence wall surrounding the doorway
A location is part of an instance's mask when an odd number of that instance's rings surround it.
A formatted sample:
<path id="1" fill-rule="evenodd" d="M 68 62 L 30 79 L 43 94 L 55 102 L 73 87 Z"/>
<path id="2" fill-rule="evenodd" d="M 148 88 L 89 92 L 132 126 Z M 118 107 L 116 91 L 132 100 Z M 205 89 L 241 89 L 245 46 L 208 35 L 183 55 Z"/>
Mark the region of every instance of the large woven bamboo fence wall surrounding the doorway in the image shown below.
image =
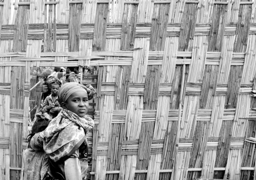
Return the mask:
<path id="1" fill-rule="evenodd" d="M 95 67 L 79 77 L 97 90 L 89 178 L 255 179 L 255 11 L 250 0 L 1 0 L 0 179 L 22 179 L 39 66 Z"/>

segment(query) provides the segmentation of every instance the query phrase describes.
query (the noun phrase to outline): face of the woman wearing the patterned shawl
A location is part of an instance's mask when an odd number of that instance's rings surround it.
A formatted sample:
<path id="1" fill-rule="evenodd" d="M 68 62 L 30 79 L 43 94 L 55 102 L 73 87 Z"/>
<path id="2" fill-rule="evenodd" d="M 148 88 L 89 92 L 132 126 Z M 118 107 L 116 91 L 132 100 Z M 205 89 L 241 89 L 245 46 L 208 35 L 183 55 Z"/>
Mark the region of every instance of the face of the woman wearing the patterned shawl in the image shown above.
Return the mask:
<path id="1" fill-rule="evenodd" d="M 74 92 L 63 104 L 63 108 L 76 113 L 79 117 L 84 117 L 89 108 L 87 92 Z"/>

